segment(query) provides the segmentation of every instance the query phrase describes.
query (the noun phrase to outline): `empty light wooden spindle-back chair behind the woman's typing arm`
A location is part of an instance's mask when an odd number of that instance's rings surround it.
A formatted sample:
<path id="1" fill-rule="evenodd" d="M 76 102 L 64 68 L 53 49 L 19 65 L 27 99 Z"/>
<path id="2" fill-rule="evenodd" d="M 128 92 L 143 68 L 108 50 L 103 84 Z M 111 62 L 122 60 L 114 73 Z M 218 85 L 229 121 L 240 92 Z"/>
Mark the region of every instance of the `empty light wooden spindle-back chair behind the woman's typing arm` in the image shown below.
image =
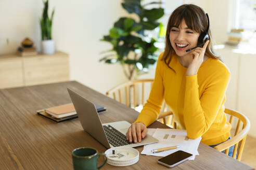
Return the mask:
<path id="1" fill-rule="evenodd" d="M 136 108 L 139 104 L 142 106 L 145 103 L 145 86 L 146 84 L 150 84 L 150 89 L 152 87 L 153 79 L 139 79 L 139 80 L 132 80 L 127 81 L 125 83 L 119 84 L 118 86 L 110 89 L 107 91 L 107 95 L 113 95 L 114 100 L 119 101 L 120 103 L 124 103 L 126 106 L 130 106 L 132 108 Z M 141 100 L 137 101 L 138 98 L 138 89 L 141 86 Z M 130 97 L 130 90 L 132 89 L 133 97 Z M 125 96 L 125 97 L 123 97 Z M 172 116 L 172 120 L 170 120 L 170 116 Z M 173 119 L 173 112 L 167 111 L 167 105 L 164 102 L 162 107 L 162 112 L 160 113 L 159 120 L 162 119 L 162 122 L 167 125 L 171 125 L 174 127 L 174 119 Z"/>

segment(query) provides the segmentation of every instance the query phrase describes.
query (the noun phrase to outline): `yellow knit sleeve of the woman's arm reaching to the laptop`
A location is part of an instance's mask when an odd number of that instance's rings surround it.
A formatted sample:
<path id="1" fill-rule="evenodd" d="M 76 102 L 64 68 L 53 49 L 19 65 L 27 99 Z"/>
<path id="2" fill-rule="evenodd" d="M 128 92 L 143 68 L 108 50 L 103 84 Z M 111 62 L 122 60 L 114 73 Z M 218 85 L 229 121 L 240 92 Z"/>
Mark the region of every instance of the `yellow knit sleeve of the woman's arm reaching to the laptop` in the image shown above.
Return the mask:
<path id="1" fill-rule="evenodd" d="M 136 122 L 143 122 L 146 126 L 157 120 L 159 112 L 163 104 L 163 79 L 162 79 L 162 62 L 160 61 L 162 54 L 160 54 L 157 62 L 155 79 L 149 94 L 149 98 L 140 112 Z"/>

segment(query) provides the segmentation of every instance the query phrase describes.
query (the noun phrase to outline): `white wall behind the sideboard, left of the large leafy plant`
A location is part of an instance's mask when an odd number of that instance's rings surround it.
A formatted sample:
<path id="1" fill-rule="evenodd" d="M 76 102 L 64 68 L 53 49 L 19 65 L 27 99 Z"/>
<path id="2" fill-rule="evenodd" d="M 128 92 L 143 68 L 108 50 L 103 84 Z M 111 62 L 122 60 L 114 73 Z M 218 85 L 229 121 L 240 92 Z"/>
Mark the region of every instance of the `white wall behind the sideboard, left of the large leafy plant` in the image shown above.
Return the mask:
<path id="1" fill-rule="evenodd" d="M 126 81 L 119 64 L 99 63 L 101 51 L 111 49 L 104 41 L 113 23 L 127 15 L 118 1 L 49 1 L 55 7 L 53 39 L 56 49 L 70 54 L 70 77 L 101 93 Z M 40 51 L 42 1 L 0 1 L 0 53 L 13 53 L 25 37 Z M 9 39 L 7 44 L 6 39 Z"/>

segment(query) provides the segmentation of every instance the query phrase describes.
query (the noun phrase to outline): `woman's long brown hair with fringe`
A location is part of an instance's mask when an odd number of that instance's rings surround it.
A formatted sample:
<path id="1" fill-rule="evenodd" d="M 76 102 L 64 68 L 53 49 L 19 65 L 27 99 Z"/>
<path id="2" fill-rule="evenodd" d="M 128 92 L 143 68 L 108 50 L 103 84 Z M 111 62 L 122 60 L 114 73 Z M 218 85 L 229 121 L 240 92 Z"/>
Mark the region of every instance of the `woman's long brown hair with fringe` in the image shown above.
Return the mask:
<path id="1" fill-rule="evenodd" d="M 186 25 L 188 26 L 189 29 L 194 30 L 195 32 L 201 34 L 202 32 L 206 32 L 207 26 L 208 26 L 208 21 L 207 21 L 207 16 L 206 13 L 203 11 L 202 8 L 199 6 L 193 5 L 193 4 L 184 4 L 181 5 L 180 7 L 176 8 L 173 12 L 172 15 L 169 18 L 168 25 L 167 25 L 167 32 L 165 36 L 165 48 L 164 48 L 164 53 L 161 61 L 164 60 L 164 63 L 169 66 L 171 59 L 172 59 L 172 54 L 174 51 L 171 42 L 170 42 L 170 31 L 172 27 L 178 27 L 181 22 L 185 21 Z M 213 59 L 218 59 L 221 60 L 221 56 L 217 56 L 215 52 L 213 52 L 212 49 L 212 36 L 211 36 L 211 30 L 209 28 L 208 31 L 209 35 L 209 44 L 206 48 L 205 54 L 209 56 L 210 58 Z M 170 55 L 170 58 L 168 59 L 168 56 Z M 222 61 L 222 60 L 221 60 Z M 172 69 L 172 68 L 171 68 Z M 174 69 L 172 69 L 174 70 Z M 175 71 L 174 71 L 175 72 Z"/>

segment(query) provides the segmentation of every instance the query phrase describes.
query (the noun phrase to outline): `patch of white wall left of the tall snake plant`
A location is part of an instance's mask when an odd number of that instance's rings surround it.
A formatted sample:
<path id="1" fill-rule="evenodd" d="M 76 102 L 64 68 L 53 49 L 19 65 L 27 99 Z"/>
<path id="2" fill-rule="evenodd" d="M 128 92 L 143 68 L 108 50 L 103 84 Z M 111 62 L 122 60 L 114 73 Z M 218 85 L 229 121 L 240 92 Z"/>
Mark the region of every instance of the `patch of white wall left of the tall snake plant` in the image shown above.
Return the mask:
<path id="1" fill-rule="evenodd" d="M 15 52 L 25 37 L 31 37 L 39 46 L 39 16 L 41 1 L 0 1 L 0 53 Z M 7 44 L 7 40 L 9 43 Z"/>

